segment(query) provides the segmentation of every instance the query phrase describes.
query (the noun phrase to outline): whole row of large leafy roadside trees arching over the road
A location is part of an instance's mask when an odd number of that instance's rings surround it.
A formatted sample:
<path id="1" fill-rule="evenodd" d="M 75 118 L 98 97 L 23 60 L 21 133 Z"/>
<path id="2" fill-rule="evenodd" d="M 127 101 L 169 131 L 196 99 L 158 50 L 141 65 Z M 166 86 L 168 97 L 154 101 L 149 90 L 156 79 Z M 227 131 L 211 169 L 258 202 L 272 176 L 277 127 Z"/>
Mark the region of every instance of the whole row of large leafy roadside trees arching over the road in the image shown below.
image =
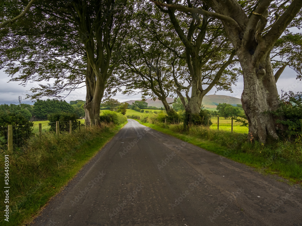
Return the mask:
<path id="1" fill-rule="evenodd" d="M 2 2 L 0 21 L 25 6 Z M 278 139 L 281 116 L 270 112 L 279 106 L 276 81 L 284 68 L 301 76 L 301 35 L 288 28 L 300 28 L 302 1 L 47 0 L 33 6 L 0 33 L 0 67 L 12 80 L 55 80 L 33 88 L 30 98 L 60 97 L 85 85 L 85 115 L 95 122 L 104 94 L 124 86 L 124 93 L 158 98 L 168 114 L 166 98 L 176 93 L 188 124 L 204 95 L 213 87 L 230 90 L 243 74 L 249 136 Z"/>

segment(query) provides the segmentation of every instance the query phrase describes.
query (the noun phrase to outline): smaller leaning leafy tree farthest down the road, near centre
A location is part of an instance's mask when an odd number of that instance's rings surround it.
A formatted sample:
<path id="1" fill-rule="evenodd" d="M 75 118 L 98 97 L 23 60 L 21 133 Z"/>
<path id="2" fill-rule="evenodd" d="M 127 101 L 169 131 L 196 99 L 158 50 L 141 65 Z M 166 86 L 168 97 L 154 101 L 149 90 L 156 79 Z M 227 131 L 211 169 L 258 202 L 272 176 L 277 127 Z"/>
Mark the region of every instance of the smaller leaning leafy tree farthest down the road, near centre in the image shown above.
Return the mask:
<path id="1" fill-rule="evenodd" d="M 123 47 L 122 62 L 120 63 L 114 86 L 126 86 L 123 93 L 142 93 L 142 98 L 147 96 L 159 99 L 168 114 L 173 109 L 167 102 L 167 97 L 175 93 L 176 86 L 172 76 L 174 73 L 183 75 L 182 67 L 173 68 L 173 56 L 170 52 L 148 33 L 143 26 L 137 25 L 129 32 L 130 37 Z"/>

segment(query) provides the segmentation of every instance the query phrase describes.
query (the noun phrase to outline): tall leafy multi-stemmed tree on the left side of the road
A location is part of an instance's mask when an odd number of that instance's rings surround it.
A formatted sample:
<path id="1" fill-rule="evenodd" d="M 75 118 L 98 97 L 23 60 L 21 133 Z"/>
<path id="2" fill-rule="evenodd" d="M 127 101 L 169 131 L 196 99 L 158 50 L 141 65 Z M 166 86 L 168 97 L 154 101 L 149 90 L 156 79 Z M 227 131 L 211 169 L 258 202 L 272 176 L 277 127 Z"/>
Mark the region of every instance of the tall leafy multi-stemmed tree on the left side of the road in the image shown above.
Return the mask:
<path id="1" fill-rule="evenodd" d="M 31 24 L 16 23 L 6 30 L 14 39 L 6 39 L 1 48 L 2 67 L 11 75 L 21 72 L 13 80 L 24 84 L 55 79 L 54 85 L 40 84 L 34 98 L 58 96 L 85 83 L 85 117 L 98 123 L 101 99 L 119 58 L 117 49 L 127 32 L 133 2 L 43 1 L 34 6 L 28 14 Z M 20 39 L 19 49 L 11 45 Z"/>

